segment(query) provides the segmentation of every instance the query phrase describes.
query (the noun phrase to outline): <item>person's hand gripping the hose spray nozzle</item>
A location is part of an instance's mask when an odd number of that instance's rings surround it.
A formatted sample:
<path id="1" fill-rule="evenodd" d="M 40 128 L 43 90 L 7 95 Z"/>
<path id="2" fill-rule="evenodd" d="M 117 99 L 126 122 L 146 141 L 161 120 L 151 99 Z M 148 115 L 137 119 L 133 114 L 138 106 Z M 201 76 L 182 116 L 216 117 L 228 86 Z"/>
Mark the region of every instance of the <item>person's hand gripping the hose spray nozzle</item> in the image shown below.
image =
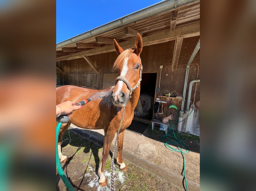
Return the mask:
<path id="1" fill-rule="evenodd" d="M 75 105 L 72 101 L 65 101 L 56 105 L 56 117 L 60 115 L 71 115 L 73 111 L 83 108 L 83 105 Z"/>

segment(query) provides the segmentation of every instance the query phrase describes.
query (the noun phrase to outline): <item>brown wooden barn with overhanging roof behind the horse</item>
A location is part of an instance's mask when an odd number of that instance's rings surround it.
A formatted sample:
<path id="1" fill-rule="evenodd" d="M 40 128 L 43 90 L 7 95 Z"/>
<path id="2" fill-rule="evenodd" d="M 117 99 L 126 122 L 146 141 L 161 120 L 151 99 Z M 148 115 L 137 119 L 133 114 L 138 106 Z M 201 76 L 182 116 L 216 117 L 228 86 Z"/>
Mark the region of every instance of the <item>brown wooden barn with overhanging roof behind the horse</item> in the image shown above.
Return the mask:
<path id="1" fill-rule="evenodd" d="M 143 39 L 141 98 L 134 117 L 164 118 L 200 136 L 200 0 L 166 0 L 56 44 L 56 85 L 113 86 L 116 39 L 123 49 Z M 167 112 L 166 112 L 167 111 Z M 177 118 L 177 117 L 176 117 Z M 154 124 L 154 123 L 153 123 Z"/>

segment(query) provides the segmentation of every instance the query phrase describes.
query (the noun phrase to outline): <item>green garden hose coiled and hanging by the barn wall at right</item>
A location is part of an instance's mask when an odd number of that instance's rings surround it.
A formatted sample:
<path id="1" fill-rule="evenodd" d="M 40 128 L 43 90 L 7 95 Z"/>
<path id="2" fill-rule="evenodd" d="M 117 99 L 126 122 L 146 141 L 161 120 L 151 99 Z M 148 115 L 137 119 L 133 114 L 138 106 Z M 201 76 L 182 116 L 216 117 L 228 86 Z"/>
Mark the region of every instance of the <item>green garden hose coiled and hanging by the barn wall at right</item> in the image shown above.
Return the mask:
<path id="1" fill-rule="evenodd" d="M 175 121 L 173 120 L 169 120 L 170 123 L 170 129 L 167 131 L 166 135 L 162 135 L 161 136 L 161 141 L 164 143 L 164 146 L 171 151 L 177 151 L 180 152 L 182 154 L 183 157 L 183 172 L 184 172 L 184 179 L 185 179 L 185 184 L 186 184 L 186 191 L 188 191 L 188 187 L 187 187 L 187 180 L 186 180 L 186 173 L 185 173 L 185 156 L 184 154 L 187 154 L 190 152 L 190 149 L 188 148 L 188 146 L 186 146 L 185 144 L 183 144 L 182 142 L 186 141 L 186 138 L 184 138 L 178 131 L 174 130 L 173 127 L 176 123 L 182 122 L 184 121 L 193 111 L 192 111 L 187 115 L 187 117 L 185 119 L 183 119 L 182 121 L 178 121 L 178 117 L 179 117 L 179 111 L 176 107 L 176 105 L 170 105 L 168 107 L 168 109 L 170 108 L 174 108 L 177 110 L 177 118 Z M 168 109 L 166 110 L 166 115 L 168 116 Z M 173 148 L 171 145 L 174 145 L 175 147 L 177 147 L 178 149 Z M 183 149 L 183 150 L 182 150 Z"/>

